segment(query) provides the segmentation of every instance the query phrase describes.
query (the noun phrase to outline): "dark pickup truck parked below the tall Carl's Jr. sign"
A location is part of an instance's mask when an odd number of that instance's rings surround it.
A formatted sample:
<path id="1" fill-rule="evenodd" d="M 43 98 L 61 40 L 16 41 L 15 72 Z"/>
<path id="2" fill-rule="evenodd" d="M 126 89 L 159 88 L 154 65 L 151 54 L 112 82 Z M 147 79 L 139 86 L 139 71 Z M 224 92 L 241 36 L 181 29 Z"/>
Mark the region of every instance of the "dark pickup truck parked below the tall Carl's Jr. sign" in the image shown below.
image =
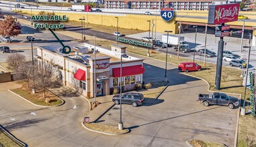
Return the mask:
<path id="1" fill-rule="evenodd" d="M 206 107 L 209 104 L 228 106 L 230 109 L 233 109 L 234 106 L 239 106 L 239 100 L 237 98 L 218 92 L 214 92 L 213 94 L 198 94 L 198 100 L 196 101 L 200 101 Z"/>

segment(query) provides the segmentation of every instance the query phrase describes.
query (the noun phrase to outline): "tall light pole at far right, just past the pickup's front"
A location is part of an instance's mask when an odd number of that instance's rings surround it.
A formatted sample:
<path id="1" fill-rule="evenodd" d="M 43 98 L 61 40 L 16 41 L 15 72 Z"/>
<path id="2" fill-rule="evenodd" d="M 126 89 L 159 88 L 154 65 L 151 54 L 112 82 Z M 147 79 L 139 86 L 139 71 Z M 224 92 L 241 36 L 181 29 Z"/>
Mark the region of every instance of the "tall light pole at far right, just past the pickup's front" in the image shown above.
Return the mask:
<path id="1" fill-rule="evenodd" d="M 247 89 L 247 78 L 248 78 L 248 68 L 249 68 L 249 61 L 250 61 L 250 54 L 251 54 L 251 33 L 249 34 L 249 47 L 244 46 L 245 48 L 249 48 L 248 56 L 247 56 L 247 67 L 246 67 L 246 76 L 245 76 L 245 96 L 243 99 L 243 108 L 241 110 L 241 115 L 245 116 L 245 97 L 246 97 L 246 89 Z M 243 66 L 243 65 L 242 65 Z"/>

